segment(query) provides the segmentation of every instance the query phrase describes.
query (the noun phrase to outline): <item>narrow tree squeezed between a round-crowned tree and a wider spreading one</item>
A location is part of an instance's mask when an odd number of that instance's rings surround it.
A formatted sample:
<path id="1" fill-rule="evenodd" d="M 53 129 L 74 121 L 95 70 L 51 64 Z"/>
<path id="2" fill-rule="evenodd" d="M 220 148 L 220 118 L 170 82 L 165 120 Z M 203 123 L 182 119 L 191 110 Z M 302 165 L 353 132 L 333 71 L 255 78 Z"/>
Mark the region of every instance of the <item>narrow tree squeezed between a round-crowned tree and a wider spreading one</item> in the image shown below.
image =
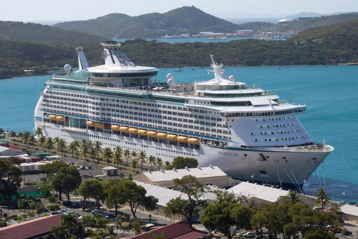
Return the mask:
<path id="1" fill-rule="evenodd" d="M 122 207 L 125 200 L 122 197 L 121 187 L 119 180 L 110 179 L 106 183 L 106 204 L 109 207 L 114 207 L 116 215 L 118 214 L 118 208 Z"/>

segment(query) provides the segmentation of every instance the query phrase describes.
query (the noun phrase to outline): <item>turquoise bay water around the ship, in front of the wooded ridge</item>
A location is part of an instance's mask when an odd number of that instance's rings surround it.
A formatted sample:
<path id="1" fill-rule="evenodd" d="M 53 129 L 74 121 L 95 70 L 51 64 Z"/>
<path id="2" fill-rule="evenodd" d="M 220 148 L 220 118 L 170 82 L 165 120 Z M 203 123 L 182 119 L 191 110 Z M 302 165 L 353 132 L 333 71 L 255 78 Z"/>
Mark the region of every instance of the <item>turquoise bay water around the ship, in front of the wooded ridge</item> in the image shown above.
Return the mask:
<path id="1" fill-rule="evenodd" d="M 168 73 L 177 83 L 211 79 L 209 68 L 160 68 L 157 79 Z M 313 140 L 334 146 L 306 183 L 307 194 L 325 184 L 335 200 L 358 200 L 358 66 L 229 67 L 227 76 L 235 75 L 248 85 L 260 85 L 277 93 L 281 99 L 308 105 L 300 121 Z M 50 76 L 28 76 L 0 80 L 0 127 L 15 131 L 34 128 L 34 109 Z M 307 168 L 307 170 L 310 170 Z"/>

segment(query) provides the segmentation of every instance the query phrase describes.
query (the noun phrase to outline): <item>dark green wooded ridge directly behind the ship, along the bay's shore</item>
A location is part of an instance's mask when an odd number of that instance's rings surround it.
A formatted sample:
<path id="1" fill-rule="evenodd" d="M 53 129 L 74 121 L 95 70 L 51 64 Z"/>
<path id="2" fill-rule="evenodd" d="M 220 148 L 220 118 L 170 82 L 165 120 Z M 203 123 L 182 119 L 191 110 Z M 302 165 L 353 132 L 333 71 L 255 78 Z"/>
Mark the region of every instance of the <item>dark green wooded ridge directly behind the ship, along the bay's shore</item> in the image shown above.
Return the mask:
<path id="1" fill-rule="evenodd" d="M 358 20 L 310 28 L 286 41 L 236 40 L 220 43 L 159 43 L 125 41 L 123 50 L 144 66 L 209 66 L 214 54 L 226 66 L 326 65 L 358 62 Z M 84 48 L 92 66 L 99 65 L 101 46 Z M 77 66 L 73 47 L 55 47 L 0 40 L 0 78 L 23 74 L 24 69 Z M 40 71 L 39 71 L 40 72 Z"/>

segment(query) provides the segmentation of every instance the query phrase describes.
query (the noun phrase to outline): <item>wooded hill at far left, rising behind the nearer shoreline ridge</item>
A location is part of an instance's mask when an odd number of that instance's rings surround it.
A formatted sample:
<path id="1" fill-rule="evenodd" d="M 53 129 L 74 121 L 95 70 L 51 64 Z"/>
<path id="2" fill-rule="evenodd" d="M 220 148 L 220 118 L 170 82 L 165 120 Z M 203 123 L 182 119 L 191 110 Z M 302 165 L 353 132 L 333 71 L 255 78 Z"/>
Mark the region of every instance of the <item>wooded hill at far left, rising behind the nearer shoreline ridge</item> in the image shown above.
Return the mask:
<path id="1" fill-rule="evenodd" d="M 105 37 L 36 23 L 0 21 L 0 38 L 56 46 L 87 46 L 108 40 Z"/>

